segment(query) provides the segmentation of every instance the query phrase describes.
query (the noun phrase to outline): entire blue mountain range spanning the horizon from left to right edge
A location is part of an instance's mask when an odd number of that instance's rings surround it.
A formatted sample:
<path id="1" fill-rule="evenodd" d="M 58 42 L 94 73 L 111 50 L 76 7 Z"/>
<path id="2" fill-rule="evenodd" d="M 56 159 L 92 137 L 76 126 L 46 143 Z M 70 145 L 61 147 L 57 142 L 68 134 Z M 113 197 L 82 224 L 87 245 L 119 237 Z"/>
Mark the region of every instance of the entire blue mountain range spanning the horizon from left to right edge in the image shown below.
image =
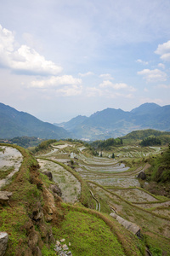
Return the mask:
<path id="1" fill-rule="evenodd" d="M 50 124 L 0 103 L 0 138 L 27 136 L 102 140 L 149 128 L 170 131 L 170 105 L 161 107 L 155 103 L 144 103 L 130 112 L 106 108 L 90 117 L 78 115 L 68 122 Z"/>

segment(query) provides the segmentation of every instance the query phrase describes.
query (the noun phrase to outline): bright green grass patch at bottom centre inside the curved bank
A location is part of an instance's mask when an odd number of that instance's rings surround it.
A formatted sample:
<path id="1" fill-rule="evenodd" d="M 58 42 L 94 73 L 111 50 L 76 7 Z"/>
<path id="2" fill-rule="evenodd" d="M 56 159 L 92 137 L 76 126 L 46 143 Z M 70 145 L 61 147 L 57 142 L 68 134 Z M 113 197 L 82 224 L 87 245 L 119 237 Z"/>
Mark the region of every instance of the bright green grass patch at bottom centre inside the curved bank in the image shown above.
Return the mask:
<path id="1" fill-rule="evenodd" d="M 71 242 L 71 253 L 75 256 L 125 255 L 116 236 L 102 219 L 83 212 L 67 212 L 55 235 Z"/>

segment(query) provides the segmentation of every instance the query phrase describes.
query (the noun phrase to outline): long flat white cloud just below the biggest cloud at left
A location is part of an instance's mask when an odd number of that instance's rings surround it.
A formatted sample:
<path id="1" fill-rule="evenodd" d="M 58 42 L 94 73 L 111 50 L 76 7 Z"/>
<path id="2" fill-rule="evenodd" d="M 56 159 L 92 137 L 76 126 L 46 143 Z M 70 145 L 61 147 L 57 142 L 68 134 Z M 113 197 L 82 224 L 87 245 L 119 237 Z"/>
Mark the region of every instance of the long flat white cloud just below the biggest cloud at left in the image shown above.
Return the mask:
<path id="1" fill-rule="evenodd" d="M 29 87 L 34 88 L 56 88 L 60 85 L 78 85 L 82 84 L 82 79 L 75 79 L 71 75 L 64 75 L 60 77 L 52 76 L 50 79 L 31 81 Z"/>

